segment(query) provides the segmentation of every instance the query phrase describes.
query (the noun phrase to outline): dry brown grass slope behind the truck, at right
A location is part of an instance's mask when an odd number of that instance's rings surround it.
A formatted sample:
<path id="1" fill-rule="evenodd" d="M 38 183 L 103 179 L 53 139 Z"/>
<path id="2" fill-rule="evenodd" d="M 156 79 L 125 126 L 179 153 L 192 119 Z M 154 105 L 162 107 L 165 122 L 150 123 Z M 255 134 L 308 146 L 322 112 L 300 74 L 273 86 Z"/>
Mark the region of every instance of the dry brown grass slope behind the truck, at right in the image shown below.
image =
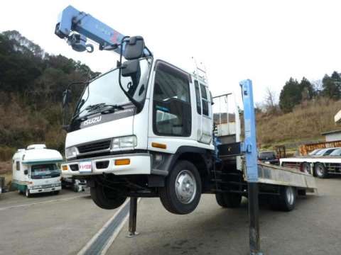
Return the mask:
<path id="1" fill-rule="evenodd" d="M 318 98 L 305 102 L 292 113 L 257 114 L 257 139 L 261 147 L 278 144 L 303 144 L 323 140 L 321 132 L 335 130 L 334 115 L 341 110 L 341 101 Z"/>

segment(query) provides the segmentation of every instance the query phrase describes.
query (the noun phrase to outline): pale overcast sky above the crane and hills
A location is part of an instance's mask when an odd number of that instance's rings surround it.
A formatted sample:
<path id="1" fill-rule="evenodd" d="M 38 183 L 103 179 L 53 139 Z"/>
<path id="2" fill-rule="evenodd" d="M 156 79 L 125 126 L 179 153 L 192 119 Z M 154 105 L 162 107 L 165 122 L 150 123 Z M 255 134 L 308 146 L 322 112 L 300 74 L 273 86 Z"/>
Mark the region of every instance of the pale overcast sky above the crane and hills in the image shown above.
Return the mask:
<path id="1" fill-rule="evenodd" d="M 46 52 L 104 72 L 111 52 L 75 52 L 54 35 L 58 13 L 71 4 L 125 35 L 142 35 L 155 56 L 190 71 L 205 63 L 213 95 L 239 93 L 252 79 L 257 102 L 267 86 L 279 95 L 290 78 L 341 72 L 341 1 L 3 1 L 0 31 L 18 30 Z"/>

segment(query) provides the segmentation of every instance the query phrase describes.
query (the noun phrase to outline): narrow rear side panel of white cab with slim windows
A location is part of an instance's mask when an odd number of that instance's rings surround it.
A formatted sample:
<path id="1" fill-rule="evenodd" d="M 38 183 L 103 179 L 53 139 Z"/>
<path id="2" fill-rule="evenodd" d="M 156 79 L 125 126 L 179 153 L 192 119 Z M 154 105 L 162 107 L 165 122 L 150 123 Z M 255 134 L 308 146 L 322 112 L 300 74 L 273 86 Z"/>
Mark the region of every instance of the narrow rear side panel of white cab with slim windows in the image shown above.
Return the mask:
<path id="1" fill-rule="evenodd" d="M 206 84 L 194 80 L 197 103 L 197 141 L 210 144 L 212 141 L 213 123 L 210 91 Z"/>

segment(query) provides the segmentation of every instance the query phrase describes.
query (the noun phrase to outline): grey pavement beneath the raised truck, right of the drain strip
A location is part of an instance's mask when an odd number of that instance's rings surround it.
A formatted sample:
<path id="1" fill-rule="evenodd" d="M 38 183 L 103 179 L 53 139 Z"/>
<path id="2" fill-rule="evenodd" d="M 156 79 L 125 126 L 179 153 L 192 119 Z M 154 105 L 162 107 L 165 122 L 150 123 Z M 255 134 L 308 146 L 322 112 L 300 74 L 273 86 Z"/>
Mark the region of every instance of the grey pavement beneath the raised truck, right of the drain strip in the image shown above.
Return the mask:
<path id="1" fill-rule="evenodd" d="M 340 254 L 341 179 L 317 179 L 318 196 L 300 198 L 292 212 L 261 208 L 264 254 Z M 247 201 L 223 209 L 210 195 L 190 215 L 172 215 L 156 198 L 142 199 L 139 236 L 126 238 L 123 227 L 107 254 L 248 254 Z"/>

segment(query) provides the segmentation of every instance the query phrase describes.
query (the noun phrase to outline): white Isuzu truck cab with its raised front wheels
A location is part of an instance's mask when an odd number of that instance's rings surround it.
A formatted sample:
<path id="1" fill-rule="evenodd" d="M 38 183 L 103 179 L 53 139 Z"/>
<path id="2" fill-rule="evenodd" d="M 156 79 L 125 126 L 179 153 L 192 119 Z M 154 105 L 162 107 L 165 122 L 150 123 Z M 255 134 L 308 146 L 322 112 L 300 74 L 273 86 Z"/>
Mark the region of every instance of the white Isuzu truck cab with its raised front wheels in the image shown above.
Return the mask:
<path id="1" fill-rule="evenodd" d="M 168 210 L 188 213 L 208 188 L 215 148 L 207 82 L 152 56 L 126 75 L 132 61 L 86 86 L 67 129 L 63 174 L 87 178 L 102 208 L 160 196 Z"/>

